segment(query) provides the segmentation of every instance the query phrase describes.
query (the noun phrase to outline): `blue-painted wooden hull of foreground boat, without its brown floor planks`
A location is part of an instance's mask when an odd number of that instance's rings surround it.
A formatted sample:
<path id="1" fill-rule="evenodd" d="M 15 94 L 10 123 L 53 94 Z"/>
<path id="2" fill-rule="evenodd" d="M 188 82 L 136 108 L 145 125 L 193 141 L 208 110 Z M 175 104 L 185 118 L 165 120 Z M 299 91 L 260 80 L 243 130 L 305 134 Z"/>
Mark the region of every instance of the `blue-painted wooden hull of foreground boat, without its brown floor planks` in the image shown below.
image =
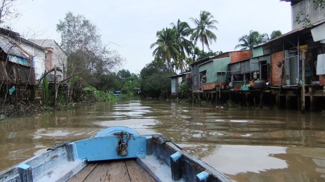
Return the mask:
<path id="1" fill-rule="evenodd" d="M 132 134 L 126 142 L 127 155 L 120 156 L 116 153 L 116 147 L 121 138 L 112 132 L 107 136 L 101 134 L 95 138 L 54 146 L 2 172 L 0 182 L 66 182 L 90 162 L 126 159 L 136 159 L 158 182 L 232 181 L 161 135 Z M 127 141 L 124 137 L 122 139 Z"/>

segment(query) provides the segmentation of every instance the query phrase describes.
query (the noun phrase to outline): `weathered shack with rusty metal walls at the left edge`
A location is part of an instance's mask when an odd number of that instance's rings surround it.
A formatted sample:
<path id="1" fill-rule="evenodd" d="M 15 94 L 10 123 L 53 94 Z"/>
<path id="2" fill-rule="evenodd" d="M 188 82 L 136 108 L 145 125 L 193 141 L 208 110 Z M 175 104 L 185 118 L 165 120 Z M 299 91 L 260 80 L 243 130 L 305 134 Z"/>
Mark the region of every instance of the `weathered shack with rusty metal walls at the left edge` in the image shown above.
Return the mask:
<path id="1" fill-rule="evenodd" d="M 0 28 L 0 97 L 7 98 L 8 93 L 18 98 L 33 89 L 37 73 L 44 70 L 44 53 L 43 47 L 19 33 Z"/>

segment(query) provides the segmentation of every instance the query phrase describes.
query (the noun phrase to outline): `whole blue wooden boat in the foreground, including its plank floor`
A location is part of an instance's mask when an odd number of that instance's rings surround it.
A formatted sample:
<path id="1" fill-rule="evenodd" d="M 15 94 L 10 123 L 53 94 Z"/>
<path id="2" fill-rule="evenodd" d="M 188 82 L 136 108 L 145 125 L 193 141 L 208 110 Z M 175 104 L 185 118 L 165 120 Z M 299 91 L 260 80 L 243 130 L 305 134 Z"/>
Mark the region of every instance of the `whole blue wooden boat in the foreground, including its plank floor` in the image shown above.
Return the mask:
<path id="1" fill-rule="evenodd" d="M 161 135 L 112 127 L 58 144 L 0 173 L 0 182 L 231 182 Z"/>

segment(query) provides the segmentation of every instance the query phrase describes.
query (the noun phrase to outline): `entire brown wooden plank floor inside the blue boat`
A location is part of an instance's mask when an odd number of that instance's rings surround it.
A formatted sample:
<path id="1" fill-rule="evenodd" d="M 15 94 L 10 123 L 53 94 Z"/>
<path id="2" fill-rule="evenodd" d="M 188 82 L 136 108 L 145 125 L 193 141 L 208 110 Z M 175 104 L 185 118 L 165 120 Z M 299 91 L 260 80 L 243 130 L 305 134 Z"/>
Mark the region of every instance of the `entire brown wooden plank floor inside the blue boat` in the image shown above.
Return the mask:
<path id="1" fill-rule="evenodd" d="M 156 182 L 135 160 L 90 163 L 68 182 Z"/>

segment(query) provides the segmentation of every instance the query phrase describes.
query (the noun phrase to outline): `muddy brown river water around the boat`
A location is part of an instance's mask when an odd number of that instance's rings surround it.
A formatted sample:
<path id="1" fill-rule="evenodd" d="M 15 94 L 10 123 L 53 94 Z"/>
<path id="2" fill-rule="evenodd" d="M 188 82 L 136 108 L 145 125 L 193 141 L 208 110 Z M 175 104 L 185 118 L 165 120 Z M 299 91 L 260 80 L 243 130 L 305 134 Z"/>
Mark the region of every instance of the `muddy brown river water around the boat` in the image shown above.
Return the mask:
<path id="1" fill-rule="evenodd" d="M 98 103 L 0 121 L 0 171 L 110 126 L 160 133 L 238 182 L 324 182 L 325 116 L 172 101 Z"/>

